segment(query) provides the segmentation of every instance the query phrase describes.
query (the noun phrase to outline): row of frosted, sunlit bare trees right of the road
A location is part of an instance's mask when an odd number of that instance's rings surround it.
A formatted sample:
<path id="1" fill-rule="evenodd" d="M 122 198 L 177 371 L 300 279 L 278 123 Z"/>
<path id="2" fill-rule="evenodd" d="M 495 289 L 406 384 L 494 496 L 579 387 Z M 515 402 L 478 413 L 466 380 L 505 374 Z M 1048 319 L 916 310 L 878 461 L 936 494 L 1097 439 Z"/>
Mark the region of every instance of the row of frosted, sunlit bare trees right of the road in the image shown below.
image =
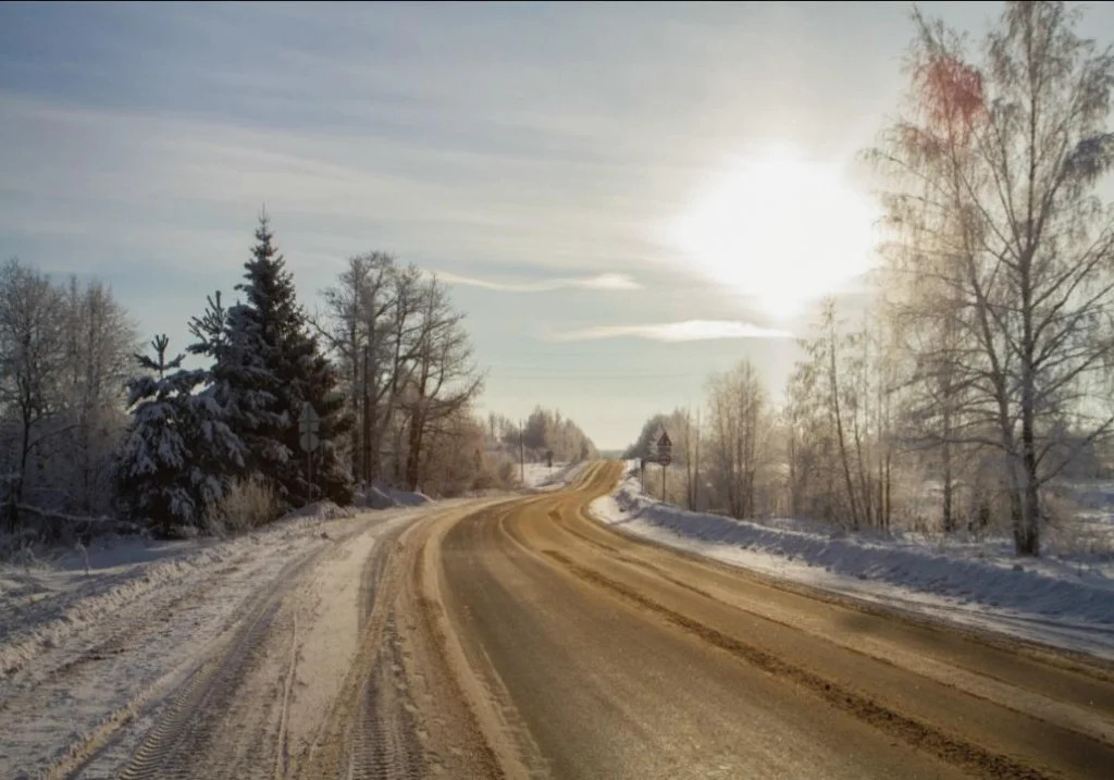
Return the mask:
<path id="1" fill-rule="evenodd" d="M 697 508 L 997 528 L 1037 555 L 1068 521 L 1057 487 L 1107 470 L 1114 222 L 1095 187 L 1114 58 L 1063 3 L 1006 3 L 979 60 L 915 21 L 908 114 L 869 155 L 890 183 L 871 312 L 825 303 L 780 409 L 745 362 L 710 382 L 702 426 L 668 420 L 673 471 Z"/>

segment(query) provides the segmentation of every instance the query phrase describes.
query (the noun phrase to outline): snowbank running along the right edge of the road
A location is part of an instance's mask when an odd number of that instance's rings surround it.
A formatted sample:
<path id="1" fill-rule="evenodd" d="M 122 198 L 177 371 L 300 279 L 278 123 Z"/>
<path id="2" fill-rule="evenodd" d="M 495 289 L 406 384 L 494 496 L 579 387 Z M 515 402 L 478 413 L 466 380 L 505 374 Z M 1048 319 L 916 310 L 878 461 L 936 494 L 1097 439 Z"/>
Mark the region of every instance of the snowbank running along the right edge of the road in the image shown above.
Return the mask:
<path id="1" fill-rule="evenodd" d="M 647 497 L 629 470 L 592 511 L 626 533 L 734 566 L 1114 660 L 1108 555 L 1023 559 L 1005 539 L 876 539 L 794 520 L 759 524 L 691 513 Z"/>

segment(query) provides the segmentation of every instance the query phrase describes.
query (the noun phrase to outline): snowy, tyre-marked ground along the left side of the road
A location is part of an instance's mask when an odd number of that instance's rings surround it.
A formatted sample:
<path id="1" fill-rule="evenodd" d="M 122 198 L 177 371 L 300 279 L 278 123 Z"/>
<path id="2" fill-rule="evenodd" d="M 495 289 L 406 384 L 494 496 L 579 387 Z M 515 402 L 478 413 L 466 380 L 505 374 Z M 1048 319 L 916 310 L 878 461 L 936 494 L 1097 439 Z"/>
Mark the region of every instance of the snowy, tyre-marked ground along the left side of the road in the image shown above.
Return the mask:
<path id="1" fill-rule="evenodd" d="M 0 777 L 76 761 L 107 733 L 126 751 L 128 732 L 141 734 L 152 709 L 304 562 L 324 555 L 322 571 L 345 577 L 333 589 L 359 592 L 359 566 L 382 533 L 451 504 L 355 515 L 317 505 L 227 540 L 101 539 L 0 564 Z M 345 613 L 333 623 L 313 633 L 342 646 L 356 622 Z"/>

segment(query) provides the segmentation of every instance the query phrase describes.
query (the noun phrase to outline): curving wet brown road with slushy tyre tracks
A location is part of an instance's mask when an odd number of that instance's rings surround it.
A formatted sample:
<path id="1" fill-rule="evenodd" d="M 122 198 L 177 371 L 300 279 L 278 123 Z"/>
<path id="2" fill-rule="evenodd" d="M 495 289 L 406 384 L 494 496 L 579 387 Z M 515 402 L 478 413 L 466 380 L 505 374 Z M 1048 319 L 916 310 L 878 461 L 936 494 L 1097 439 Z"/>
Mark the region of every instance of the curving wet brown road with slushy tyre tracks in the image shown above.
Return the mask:
<path id="1" fill-rule="evenodd" d="M 106 773 L 1114 777 L 1111 671 L 626 537 L 587 515 L 618 475 L 293 564 Z"/>

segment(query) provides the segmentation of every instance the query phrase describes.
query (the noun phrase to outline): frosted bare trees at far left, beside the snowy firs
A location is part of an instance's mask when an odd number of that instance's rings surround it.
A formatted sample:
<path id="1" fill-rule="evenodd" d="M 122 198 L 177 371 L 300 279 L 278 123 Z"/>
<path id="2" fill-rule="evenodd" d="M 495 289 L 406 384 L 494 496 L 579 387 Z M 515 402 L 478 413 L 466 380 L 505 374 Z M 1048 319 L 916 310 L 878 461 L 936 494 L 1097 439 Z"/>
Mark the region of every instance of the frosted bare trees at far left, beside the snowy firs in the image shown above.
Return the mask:
<path id="1" fill-rule="evenodd" d="M 135 326 L 96 280 L 66 286 L 0 269 L 0 485 L 9 524 L 26 511 L 105 514 L 128 425 Z"/>

